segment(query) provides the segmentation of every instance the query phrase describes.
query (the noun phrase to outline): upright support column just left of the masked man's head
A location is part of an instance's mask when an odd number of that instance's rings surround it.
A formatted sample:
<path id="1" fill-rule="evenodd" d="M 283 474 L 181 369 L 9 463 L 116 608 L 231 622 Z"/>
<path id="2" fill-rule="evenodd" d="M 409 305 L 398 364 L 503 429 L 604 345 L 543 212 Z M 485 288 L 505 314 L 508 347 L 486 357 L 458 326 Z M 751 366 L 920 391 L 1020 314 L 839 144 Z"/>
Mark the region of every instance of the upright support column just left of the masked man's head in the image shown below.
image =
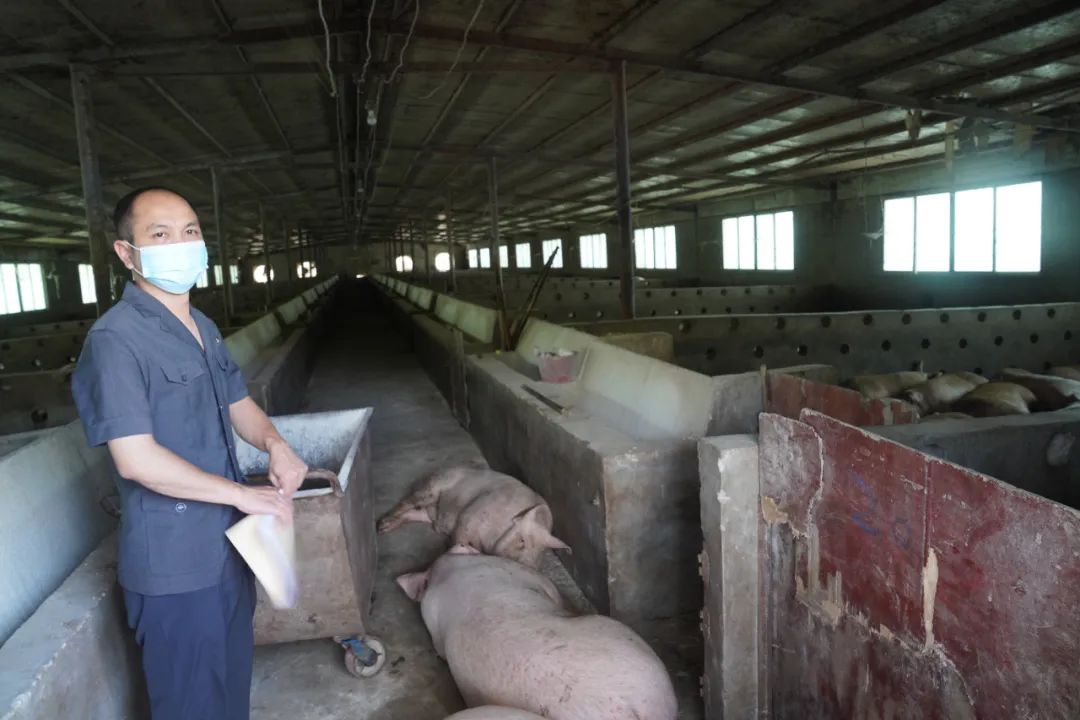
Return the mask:
<path id="1" fill-rule="evenodd" d="M 86 234 L 90 237 L 90 263 L 94 269 L 94 290 L 98 317 L 112 307 L 112 283 L 109 282 L 109 227 L 105 217 L 102 172 L 97 162 L 97 128 L 90 77 L 72 65 L 71 97 L 75 108 L 75 132 L 79 142 L 79 171 L 82 174 L 82 196 L 86 205 Z"/>

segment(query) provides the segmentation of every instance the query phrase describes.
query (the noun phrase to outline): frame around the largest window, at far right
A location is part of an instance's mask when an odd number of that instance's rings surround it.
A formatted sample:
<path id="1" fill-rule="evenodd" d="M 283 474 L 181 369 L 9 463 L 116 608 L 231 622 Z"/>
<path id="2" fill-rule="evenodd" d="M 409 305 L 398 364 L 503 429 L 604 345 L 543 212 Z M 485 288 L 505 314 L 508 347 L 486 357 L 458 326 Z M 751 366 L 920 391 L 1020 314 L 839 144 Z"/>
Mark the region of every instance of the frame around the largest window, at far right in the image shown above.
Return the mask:
<path id="1" fill-rule="evenodd" d="M 990 247 L 991 247 L 991 266 L 997 267 L 998 261 L 998 188 L 1005 188 L 1014 185 L 1028 185 L 1031 182 L 1039 182 L 1042 187 L 1040 188 L 1040 199 L 1044 198 L 1047 181 L 1041 175 L 1037 176 L 1026 176 L 1022 178 L 1011 178 L 1008 180 L 995 180 L 989 184 L 983 182 L 963 182 L 960 185 L 934 185 L 929 188 L 919 190 L 918 192 L 892 192 L 888 194 L 880 195 L 881 203 L 881 252 L 879 255 L 879 260 L 875 263 L 876 271 L 881 276 L 896 276 L 904 273 L 912 275 L 995 275 L 1007 277 L 1009 275 L 1014 275 L 1016 277 L 1031 277 L 1032 275 L 1042 274 L 1043 270 L 1043 255 L 1042 255 L 1042 240 L 1043 240 L 1043 207 L 1039 207 L 1039 269 L 1038 270 L 955 270 L 956 268 L 956 193 L 967 192 L 969 190 L 994 190 L 994 212 L 990 213 Z M 886 270 L 885 269 L 885 204 L 890 200 L 906 200 L 920 198 L 922 195 L 936 195 L 942 193 L 948 193 L 949 195 L 949 252 L 948 252 L 948 270 L 916 270 L 917 266 L 917 241 L 918 237 L 913 237 L 913 248 L 912 248 L 912 269 L 910 270 Z M 914 202 L 914 216 L 913 221 L 916 222 L 915 227 L 918 228 L 918 201 Z M 917 230 L 916 230 L 917 231 Z"/>

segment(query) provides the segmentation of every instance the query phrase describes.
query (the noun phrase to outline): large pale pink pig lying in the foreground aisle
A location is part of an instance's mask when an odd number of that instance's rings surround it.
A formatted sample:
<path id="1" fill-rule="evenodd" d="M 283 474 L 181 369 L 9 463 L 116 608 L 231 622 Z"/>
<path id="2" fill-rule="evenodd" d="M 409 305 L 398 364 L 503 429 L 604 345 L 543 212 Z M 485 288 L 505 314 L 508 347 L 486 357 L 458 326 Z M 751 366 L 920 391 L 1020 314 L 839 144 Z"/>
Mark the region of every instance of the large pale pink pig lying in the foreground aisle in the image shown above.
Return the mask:
<path id="1" fill-rule="evenodd" d="M 675 720 L 671 678 L 622 623 L 575 615 L 536 570 L 457 545 L 397 584 L 470 707 L 551 720 Z M 484 716 L 481 716 L 484 717 Z"/>

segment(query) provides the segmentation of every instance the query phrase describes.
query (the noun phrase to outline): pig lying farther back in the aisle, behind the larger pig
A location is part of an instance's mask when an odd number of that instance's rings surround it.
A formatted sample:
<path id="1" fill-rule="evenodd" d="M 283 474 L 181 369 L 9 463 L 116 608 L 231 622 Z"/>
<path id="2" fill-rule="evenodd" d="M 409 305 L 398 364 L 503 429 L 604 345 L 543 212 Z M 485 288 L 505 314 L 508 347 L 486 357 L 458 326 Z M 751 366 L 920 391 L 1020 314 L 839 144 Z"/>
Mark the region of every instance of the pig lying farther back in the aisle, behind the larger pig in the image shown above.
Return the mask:
<path id="1" fill-rule="evenodd" d="M 430 522 L 455 544 L 530 568 L 543 552 L 570 548 L 551 534 L 551 508 L 521 480 L 482 465 L 434 473 L 379 520 L 379 532 Z"/>

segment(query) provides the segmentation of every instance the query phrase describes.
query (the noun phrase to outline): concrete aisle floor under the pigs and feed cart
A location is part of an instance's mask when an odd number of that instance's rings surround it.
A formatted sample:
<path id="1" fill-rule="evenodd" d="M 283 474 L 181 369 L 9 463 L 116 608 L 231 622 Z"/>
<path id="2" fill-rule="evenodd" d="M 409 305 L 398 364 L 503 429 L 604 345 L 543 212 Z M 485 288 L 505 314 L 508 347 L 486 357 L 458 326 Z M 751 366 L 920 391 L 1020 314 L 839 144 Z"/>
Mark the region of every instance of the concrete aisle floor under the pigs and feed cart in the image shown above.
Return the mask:
<path id="1" fill-rule="evenodd" d="M 348 327 L 322 348 L 306 409 L 375 408 L 372 477 L 376 513 L 382 514 L 427 473 L 482 457 L 388 318 L 369 307 L 343 316 Z M 328 639 L 257 648 L 253 720 L 442 720 L 461 709 L 419 607 L 394 584 L 399 574 L 427 567 L 445 546 L 445 539 L 417 525 L 379 538 L 369 631 L 387 646 L 388 664 L 380 675 L 367 680 L 349 675 L 341 650 Z M 571 607 L 590 610 L 554 556 L 543 569 Z M 680 720 L 702 718 L 698 619 L 658 623 L 646 640 L 672 671 Z"/>

